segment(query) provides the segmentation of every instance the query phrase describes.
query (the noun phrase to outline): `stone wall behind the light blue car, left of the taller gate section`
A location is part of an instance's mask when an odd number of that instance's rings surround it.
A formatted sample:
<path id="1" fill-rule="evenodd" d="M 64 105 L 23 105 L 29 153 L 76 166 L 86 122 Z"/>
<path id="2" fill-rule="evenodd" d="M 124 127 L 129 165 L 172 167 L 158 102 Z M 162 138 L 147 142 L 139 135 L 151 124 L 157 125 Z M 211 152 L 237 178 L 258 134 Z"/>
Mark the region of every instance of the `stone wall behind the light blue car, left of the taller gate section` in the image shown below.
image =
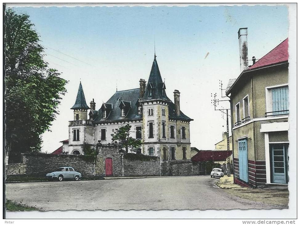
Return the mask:
<path id="1" fill-rule="evenodd" d="M 26 174 L 45 177 L 47 173 L 53 172 L 53 170 L 62 166 L 73 167 L 84 178 L 95 175 L 94 162 L 90 156 L 42 153 L 23 153 L 20 163 L 8 164 L 7 175 Z"/>

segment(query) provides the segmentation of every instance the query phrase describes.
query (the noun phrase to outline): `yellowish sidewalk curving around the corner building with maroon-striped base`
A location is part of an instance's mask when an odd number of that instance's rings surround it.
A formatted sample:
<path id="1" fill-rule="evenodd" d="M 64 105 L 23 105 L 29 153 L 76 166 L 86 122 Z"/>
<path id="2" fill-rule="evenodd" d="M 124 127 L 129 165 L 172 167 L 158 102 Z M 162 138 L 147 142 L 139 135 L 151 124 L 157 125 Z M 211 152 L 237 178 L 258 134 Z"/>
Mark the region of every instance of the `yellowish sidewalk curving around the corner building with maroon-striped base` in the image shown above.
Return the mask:
<path id="1" fill-rule="evenodd" d="M 282 205 L 288 208 L 289 190 L 287 186 L 270 186 L 265 188 L 241 187 L 233 183 L 231 177 L 224 176 L 217 182 L 217 186 L 229 194 L 255 202 L 264 202 L 273 205 Z"/>

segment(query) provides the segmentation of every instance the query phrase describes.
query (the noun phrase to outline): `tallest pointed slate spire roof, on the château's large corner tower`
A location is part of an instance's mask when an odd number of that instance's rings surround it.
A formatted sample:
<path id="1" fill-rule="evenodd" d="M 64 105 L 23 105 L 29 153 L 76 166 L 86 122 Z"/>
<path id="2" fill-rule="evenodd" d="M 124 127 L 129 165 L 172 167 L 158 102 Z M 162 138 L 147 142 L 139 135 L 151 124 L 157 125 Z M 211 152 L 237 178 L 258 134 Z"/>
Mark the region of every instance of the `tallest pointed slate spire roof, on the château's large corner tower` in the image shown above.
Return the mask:
<path id="1" fill-rule="evenodd" d="M 170 99 L 166 95 L 165 88 L 166 88 L 166 86 L 160 76 L 160 71 L 158 68 L 157 61 L 156 61 L 156 55 L 154 54 L 154 60 L 152 63 L 151 72 L 150 72 L 148 83 L 146 86 L 146 91 L 145 91 L 142 99 L 143 100 L 164 99 L 164 100 L 170 101 Z M 152 89 L 152 91 L 153 91 L 152 96 L 149 96 L 150 89 Z"/>

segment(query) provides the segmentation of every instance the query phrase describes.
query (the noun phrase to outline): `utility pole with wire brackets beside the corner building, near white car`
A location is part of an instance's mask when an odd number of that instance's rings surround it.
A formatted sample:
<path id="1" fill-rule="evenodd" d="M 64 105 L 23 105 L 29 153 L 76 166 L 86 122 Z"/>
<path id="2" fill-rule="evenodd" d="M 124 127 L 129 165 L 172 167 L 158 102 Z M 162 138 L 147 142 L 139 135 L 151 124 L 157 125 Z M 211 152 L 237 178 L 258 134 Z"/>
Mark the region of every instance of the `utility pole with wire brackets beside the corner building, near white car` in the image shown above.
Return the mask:
<path id="1" fill-rule="evenodd" d="M 221 89 L 221 98 L 229 98 L 228 96 L 223 96 L 223 84 L 222 81 L 219 80 L 219 86 Z M 225 99 L 225 100 L 219 100 L 217 99 L 217 93 L 211 93 L 211 97 L 213 97 L 213 99 L 211 100 L 211 103 L 214 106 L 214 109 L 216 111 L 221 111 L 222 112 L 222 116 L 224 117 L 224 114 L 226 114 L 226 128 L 227 128 L 227 176 L 230 177 L 230 149 L 229 149 L 229 119 L 228 117 L 230 117 L 230 115 L 228 114 L 228 110 L 230 110 L 230 108 L 224 108 L 222 107 L 222 109 L 218 108 L 219 102 L 222 101 L 229 101 L 230 99 Z M 224 111 L 226 110 L 226 112 Z"/>

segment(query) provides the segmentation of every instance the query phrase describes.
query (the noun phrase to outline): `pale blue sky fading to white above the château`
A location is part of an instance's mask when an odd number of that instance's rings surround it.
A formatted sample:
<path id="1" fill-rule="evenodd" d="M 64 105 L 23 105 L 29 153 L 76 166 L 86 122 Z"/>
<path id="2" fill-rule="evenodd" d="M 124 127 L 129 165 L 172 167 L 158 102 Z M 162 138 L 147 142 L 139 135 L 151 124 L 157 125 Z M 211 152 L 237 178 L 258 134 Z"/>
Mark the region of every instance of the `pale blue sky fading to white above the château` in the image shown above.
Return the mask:
<path id="1" fill-rule="evenodd" d="M 52 132 L 43 135 L 43 150 L 52 152 L 68 138 L 70 109 L 81 79 L 87 104 L 96 108 L 118 90 L 148 80 L 154 55 L 167 95 L 181 92 L 180 108 L 193 118 L 191 145 L 214 149 L 226 121 L 210 104 L 239 71 L 237 31 L 248 27 L 249 59 L 268 53 L 288 35 L 287 6 L 122 6 L 15 7 L 35 24 L 45 59 L 69 80 Z M 62 54 L 63 53 L 63 54 Z M 208 55 L 207 55 L 208 54 Z M 205 56 L 207 57 L 205 58 Z M 71 57 L 70 57 L 71 56 Z M 249 62 L 251 64 L 251 62 Z M 224 127 L 222 127 L 224 125 Z"/>

